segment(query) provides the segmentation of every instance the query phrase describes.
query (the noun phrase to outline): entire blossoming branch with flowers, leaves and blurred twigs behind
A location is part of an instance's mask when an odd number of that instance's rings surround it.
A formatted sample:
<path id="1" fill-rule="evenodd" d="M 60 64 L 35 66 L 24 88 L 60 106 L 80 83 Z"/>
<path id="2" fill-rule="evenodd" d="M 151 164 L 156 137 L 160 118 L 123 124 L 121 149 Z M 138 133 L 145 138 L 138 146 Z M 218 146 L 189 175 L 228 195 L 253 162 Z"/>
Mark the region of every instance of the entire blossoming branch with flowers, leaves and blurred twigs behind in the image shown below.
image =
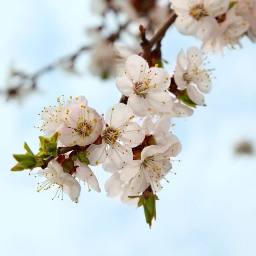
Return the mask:
<path id="1" fill-rule="evenodd" d="M 34 154 L 25 143 L 26 153 L 14 154 L 18 163 L 12 171 L 30 169 L 29 175 L 42 179 L 38 192 L 54 187 L 52 200 L 62 200 L 64 192 L 78 203 L 81 182 L 89 191 L 101 192 L 92 169 L 102 164 L 112 174 L 105 183 L 107 196 L 143 206 L 151 227 L 158 192 L 169 182 L 169 173 L 175 174 L 172 162 L 182 149 L 170 131 L 172 120 L 192 116 L 197 106 L 205 105 L 204 94 L 211 92 L 213 78 L 213 69 L 206 67 L 207 52 L 241 47 L 239 40 L 244 36 L 256 41 L 256 0 L 172 0 L 169 6 L 160 6 L 157 0 L 95 0 L 92 8 L 103 19 L 102 26 L 87 29 L 92 46 L 32 75 L 12 70 L 12 83 L 5 93 L 26 95 L 36 88 L 38 77 L 57 67 L 76 73 L 77 58 L 90 51 L 89 71 L 102 79 L 115 77 L 120 102 L 99 114 L 86 96 L 70 96 L 66 101 L 59 97 L 39 114 L 42 125 L 38 128 L 44 133 L 39 151 Z M 126 17 L 114 34 L 108 34 L 104 22 L 108 12 Z M 173 23 L 202 45 L 186 52 L 181 49 L 171 76 L 163 69 L 161 42 Z M 135 32 L 131 25 L 136 25 Z M 136 47 L 124 46 L 123 33 Z"/>

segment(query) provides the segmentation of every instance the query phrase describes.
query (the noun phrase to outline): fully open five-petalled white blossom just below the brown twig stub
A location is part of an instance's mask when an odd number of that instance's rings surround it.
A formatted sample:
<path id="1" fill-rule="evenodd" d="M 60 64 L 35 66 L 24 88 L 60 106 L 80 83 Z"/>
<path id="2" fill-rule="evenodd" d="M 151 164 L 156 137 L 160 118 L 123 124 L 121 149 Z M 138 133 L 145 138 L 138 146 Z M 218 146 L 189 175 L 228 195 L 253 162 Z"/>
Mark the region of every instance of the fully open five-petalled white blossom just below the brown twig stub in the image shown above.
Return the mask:
<path id="1" fill-rule="evenodd" d="M 138 55 L 126 61 L 126 71 L 116 78 L 118 90 L 128 96 L 128 105 L 137 116 L 147 116 L 151 111 L 168 113 L 172 109 L 171 96 L 165 92 L 169 87 L 169 73 L 158 67 L 148 67 L 148 62 Z"/>

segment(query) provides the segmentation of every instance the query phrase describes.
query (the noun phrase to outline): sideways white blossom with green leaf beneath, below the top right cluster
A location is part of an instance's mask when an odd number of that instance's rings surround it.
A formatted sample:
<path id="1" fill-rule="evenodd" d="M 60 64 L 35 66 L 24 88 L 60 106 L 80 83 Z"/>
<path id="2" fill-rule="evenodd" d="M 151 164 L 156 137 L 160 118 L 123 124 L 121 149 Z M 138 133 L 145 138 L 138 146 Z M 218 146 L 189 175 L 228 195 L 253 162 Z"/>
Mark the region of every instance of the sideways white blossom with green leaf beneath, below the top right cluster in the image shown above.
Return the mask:
<path id="1" fill-rule="evenodd" d="M 197 47 L 190 47 L 187 56 L 183 49 L 177 55 L 175 83 L 180 90 L 187 91 L 189 99 L 197 105 L 204 105 L 204 95 L 212 90 L 211 72 L 205 69 L 203 52 Z M 202 93 L 200 93 L 202 92 Z"/>

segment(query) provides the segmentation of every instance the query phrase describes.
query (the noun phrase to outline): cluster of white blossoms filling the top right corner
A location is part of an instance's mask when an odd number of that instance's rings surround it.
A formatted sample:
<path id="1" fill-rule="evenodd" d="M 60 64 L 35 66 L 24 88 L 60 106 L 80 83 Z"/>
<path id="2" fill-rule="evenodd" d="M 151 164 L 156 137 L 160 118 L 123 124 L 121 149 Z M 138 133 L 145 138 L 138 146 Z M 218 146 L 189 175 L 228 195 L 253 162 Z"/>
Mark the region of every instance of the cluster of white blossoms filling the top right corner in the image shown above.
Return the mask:
<path id="1" fill-rule="evenodd" d="M 256 41 L 255 0 L 171 0 L 171 9 L 179 32 L 203 41 L 204 52 L 234 48 L 245 33 Z"/>

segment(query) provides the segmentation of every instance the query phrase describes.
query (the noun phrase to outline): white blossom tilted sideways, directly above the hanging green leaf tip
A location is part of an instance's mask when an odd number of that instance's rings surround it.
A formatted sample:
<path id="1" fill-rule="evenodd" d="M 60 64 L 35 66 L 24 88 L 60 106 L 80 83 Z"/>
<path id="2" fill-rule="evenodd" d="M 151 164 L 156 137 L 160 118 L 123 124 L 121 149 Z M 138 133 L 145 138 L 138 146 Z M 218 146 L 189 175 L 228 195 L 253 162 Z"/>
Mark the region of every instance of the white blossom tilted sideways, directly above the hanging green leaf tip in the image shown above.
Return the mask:
<path id="1" fill-rule="evenodd" d="M 160 147 L 151 145 L 145 147 L 141 152 L 141 160 L 133 160 L 133 162 L 125 166 L 120 178 L 123 181 L 131 181 L 132 195 L 138 195 L 145 191 L 148 186 L 156 193 L 162 189 L 160 180 L 170 172 L 172 164 L 170 157 L 176 157 L 180 153 L 180 143 L 169 141 L 169 144 Z"/>

